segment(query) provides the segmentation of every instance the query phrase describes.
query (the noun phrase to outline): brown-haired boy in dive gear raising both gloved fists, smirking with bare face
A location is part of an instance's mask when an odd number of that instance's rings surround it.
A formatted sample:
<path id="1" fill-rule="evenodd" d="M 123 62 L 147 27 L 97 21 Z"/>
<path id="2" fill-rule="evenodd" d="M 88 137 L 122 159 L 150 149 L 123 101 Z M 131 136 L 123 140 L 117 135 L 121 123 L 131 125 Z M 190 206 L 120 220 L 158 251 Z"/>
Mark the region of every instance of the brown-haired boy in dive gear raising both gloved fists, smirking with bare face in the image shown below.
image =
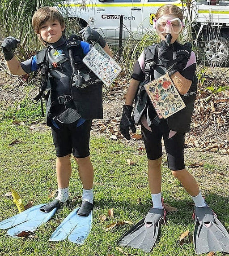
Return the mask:
<path id="1" fill-rule="evenodd" d="M 75 35 L 67 40 L 64 35 L 64 18 L 53 7 L 38 9 L 34 13 L 32 24 L 38 38 L 46 46 L 45 50 L 20 63 L 13 55 L 13 50 L 17 48 L 20 41 L 7 37 L 2 43 L 2 51 L 8 69 L 13 75 L 24 75 L 36 71 L 42 65 L 48 68 L 51 89 L 47 94 L 46 122 L 51 126 L 56 149 L 58 195 L 40 210 L 51 212 L 68 201 L 68 185 L 72 172 L 70 158 L 73 154 L 83 185 L 82 203 L 77 214 L 89 216 L 94 206 L 93 166 L 89 157 L 89 137 L 92 119 L 102 118 L 103 115 L 102 84 L 99 82 L 91 87 L 89 85 L 85 88 L 76 88 L 76 86 L 73 88 L 72 63 L 69 61 L 68 49 L 72 49 L 73 65 L 77 65 L 76 70 L 83 72 L 87 68 L 82 58 L 89 52 L 91 45 L 78 40 L 79 37 Z M 111 56 L 108 45 L 97 31 L 86 27 L 81 33 L 85 40 L 98 42 Z M 78 87 L 81 87 L 79 84 L 81 79 L 77 81 Z"/>

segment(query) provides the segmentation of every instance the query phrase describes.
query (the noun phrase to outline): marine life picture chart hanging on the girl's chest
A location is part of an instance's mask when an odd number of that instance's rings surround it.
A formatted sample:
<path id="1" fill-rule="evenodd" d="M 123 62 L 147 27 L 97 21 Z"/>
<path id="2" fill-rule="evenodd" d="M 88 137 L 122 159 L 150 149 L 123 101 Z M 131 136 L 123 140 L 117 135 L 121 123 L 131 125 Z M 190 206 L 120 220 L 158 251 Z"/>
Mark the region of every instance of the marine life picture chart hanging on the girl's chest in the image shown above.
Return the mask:
<path id="1" fill-rule="evenodd" d="M 185 107 L 168 74 L 144 85 L 159 118 L 167 118 Z"/>

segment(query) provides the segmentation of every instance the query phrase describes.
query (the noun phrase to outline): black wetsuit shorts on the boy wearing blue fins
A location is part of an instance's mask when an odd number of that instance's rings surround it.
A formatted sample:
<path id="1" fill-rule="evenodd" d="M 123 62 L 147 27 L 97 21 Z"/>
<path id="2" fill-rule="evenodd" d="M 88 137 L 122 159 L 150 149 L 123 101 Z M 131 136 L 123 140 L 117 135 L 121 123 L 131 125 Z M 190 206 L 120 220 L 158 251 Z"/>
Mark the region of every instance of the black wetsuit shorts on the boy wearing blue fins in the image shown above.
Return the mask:
<path id="1" fill-rule="evenodd" d="M 91 126 L 92 120 L 85 120 L 79 127 L 76 127 L 76 124 L 63 124 L 59 128 L 53 126 L 51 130 L 56 156 L 63 157 L 68 154 L 73 154 L 77 158 L 89 156 Z"/>

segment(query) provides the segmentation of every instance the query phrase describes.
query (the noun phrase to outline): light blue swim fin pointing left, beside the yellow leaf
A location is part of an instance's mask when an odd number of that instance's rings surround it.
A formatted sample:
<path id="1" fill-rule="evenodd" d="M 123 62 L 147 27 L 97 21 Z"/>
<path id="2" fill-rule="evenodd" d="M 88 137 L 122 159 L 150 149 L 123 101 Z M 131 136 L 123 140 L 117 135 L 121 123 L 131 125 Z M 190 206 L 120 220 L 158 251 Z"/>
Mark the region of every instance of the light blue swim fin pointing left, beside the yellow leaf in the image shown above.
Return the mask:
<path id="1" fill-rule="evenodd" d="M 39 204 L 31 207 L 24 212 L 21 212 L 13 217 L 10 217 L 4 221 L 0 222 L 0 229 L 8 229 L 7 234 L 18 238 L 18 234 L 22 231 L 33 232 L 40 225 L 46 223 L 51 216 L 56 212 L 57 208 L 54 208 L 51 212 L 45 213 L 41 212 L 40 208 L 46 204 Z"/>

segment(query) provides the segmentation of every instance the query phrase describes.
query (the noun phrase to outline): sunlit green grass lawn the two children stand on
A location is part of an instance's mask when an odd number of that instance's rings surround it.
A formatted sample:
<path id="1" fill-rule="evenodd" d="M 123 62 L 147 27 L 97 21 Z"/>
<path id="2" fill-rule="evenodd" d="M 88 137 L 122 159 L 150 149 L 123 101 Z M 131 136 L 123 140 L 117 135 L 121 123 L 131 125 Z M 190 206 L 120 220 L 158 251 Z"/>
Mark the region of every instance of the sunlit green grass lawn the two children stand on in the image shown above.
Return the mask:
<path id="1" fill-rule="evenodd" d="M 26 101 L 26 99 L 24 100 Z M 22 105 L 21 105 L 22 106 Z M 9 109 L 8 112 L 11 110 Z M 30 113 L 32 110 L 28 110 Z M 39 111 L 39 110 L 38 110 Z M 34 115 L 36 116 L 36 115 Z M 55 191 L 55 150 L 51 139 L 51 131 L 30 130 L 30 119 L 26 115 L 25 125 L 13 125 L 12 119 L 4 118 L 0 123 L 0 221 L 17 214 L 17 207 L 13 199 L 4 196 L 12 186 L 22 198 L 24 205 L 34 201 L 34 205 L 50 201 L 50 189 Z M 27 125 L 28 124 L 28 125 Z M 12 141 L 20 143 L 9 146 Z M 121 256 L 117 241 L 131 225 L 123 225 L 110 231 L 105 231 L 106 225 L 114 221 L 132 221 L 136 223 L 147 212 L 150 204 L 150 192 L 147 181 L 147 159 L 138 154 L 134 146 L 125 146 L 121 142 L 111 141 L 104 137 L 92 137 L 91 159 L 93 162 L 95 208 L 93 211 L 93 227 L 89 237 L 82 246 L 68 240 L 62 242 L 48 242 L 53 230 L 64 218 L 81 203 L 80 199 L 73 201 L 70 207 L 64 207 L 51 218 L 46 225 L 35 231 L 35 238 L 15 239 L 0 230 L 1 256 Z M 126 159 L 135 162 L 129 166 Z M 193 206 L 191 199 L 178 181 L 170 174 L 163 159 L 162 165 L 162 193 L 166 203 L 178 208 L 178 212 L 167 215 L 167 224 L 161 227 L 160 239 L 151 253 L 144 253 L 138 249 L 123 247 L 123 251 L 138 256 L 194 256 L 194 247 L 185 243 L 182 247 L 178 240 L 186 230 L 193 232 L 194 221 L 191 218 Z M 72 159 L 72 177 L 70 180 L 70 200 L 81 195 L 82 185 L 78 176 L 76 163 Z M 220 170 L 217 164 L 205 164 L 207 171 Z M 207 172 L 208 173 L 208 172 Z M 211 174 L 210 174 L 211 175 Z M 206 178 L 206 177 L 205 177 Z M 174 180 L 170 183 L 168 180 Z M 221 186 L 214 186 L 205 194 L 208 203 L 214 206 L 219 219 L 229 230 L 228 214 L 228 176 L 221 180 Z M 222 183 L 223 182 L 223 183 Z M 209 185 L 210 187 L 211 185 Z M 218 193 L 219 192 L 219 193 Z M 138 204 L 141 198 L 142 205 Z M 114 208 L 114 219 L 107 215 L 107 211 Z M 106 221 L 101 222 L 99 216 L 105 214 Z M 216 255 L 223 255 L 217 253 Z"/>

